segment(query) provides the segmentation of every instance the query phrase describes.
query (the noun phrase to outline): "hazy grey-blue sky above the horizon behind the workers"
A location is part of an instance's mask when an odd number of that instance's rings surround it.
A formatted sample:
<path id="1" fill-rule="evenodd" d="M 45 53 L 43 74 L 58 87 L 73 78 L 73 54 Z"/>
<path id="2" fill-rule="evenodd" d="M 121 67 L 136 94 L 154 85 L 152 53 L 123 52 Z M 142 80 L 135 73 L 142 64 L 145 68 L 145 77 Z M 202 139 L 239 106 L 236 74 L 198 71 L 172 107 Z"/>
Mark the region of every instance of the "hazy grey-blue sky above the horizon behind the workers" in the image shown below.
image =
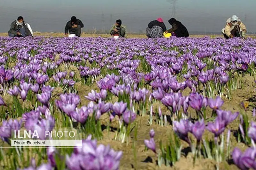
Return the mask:
<path id="1" fill-rule="evenodd" d="M 0 32 L 8 32 L 11 22 L 20 15 L 39 32 L 64 32 L 73 15 L 82 20 L 84 31 L 109 30 L 116 19 L 121 19 L 128 32 L 145 32 L 148 23 L 158 17 L 171 28 L 171 1 L 0 0 Z M 177 0 L 175 18 L 189 32 L 220 32 L 225 21 L 237 15 L 248 32 L 256 32 L 255 6 L 255 0 Z"/>

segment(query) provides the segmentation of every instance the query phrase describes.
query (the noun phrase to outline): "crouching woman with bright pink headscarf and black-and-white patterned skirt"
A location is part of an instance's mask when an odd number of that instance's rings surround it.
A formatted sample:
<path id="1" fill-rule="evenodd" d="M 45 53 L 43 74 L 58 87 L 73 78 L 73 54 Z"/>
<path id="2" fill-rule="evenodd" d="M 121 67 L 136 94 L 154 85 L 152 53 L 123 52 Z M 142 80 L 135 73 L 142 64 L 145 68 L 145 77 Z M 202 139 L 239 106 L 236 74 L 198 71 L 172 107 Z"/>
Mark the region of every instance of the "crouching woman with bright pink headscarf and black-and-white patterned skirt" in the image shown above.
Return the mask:
<path id="1" fill-rule="evenodd" d="M 162 18 L 151 21 L 146 29 L 148 38 L 162 38 L 165 31 L 166 27 Z"/>

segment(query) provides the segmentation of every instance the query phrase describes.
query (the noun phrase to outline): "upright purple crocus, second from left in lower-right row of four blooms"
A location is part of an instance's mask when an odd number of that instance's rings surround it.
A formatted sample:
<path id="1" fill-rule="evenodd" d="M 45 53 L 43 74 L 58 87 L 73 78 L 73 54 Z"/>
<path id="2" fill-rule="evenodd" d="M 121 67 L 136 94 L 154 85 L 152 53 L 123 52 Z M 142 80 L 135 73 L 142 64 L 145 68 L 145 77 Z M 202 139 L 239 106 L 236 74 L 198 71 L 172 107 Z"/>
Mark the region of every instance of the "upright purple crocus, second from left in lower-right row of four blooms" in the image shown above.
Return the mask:
<path id="1" fill-rule="evenodd" d="M 202 139 L 205 129 L 204 119 L 197 121 L 195 124 L 190 124 L 190 132 L 196 137 L 197 141 Z"/>

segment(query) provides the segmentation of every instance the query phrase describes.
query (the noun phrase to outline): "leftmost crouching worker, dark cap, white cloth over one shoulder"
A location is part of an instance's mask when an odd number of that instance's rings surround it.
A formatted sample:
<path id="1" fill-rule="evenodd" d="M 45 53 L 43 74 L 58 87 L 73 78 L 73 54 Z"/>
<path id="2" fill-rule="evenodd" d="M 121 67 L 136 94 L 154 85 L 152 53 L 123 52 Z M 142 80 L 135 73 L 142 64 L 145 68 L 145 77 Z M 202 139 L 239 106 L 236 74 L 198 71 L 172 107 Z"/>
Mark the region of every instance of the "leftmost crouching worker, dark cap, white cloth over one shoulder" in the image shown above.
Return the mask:
<path id="1" fill-rule="evenodd" d="M 12 22 L 8 35 L 10 37 L 33 37 L 33 31 L 31 26 L 20 16 Z"/>

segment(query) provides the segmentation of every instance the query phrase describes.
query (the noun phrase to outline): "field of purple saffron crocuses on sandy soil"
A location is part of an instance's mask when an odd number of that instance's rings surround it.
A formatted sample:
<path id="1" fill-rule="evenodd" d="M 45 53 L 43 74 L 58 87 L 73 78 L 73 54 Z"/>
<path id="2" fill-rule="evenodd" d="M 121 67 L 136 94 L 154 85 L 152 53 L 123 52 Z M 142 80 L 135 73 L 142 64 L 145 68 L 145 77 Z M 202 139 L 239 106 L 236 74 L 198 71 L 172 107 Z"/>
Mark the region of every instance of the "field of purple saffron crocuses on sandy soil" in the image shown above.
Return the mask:
<path id="1" fill-rule="evenodd" d="M 0 37 L 0 169 L 256 169 L 255 64 L 251 38 Z M 58 127 L 82 148 L 11 147 Z"/>

